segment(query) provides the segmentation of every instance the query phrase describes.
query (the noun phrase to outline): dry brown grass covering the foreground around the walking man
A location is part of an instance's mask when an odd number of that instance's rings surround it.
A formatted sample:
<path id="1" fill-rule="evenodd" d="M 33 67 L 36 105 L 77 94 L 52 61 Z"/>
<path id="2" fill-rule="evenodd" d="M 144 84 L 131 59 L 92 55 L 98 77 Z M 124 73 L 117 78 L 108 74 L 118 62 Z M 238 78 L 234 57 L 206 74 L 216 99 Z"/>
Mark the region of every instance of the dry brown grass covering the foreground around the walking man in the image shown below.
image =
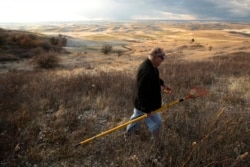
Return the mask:
<path id="1" fill-rule="evenodd" d="M 99 72 L 63 77 L 54 71 L 0 76 L 1 166 L 249 166 L 249 53 L 199 62 L 169 57 L 160 70 L 174 94 L 194 86 L 209 96 L 162 114 L 161 140 L 123 130 L 75 144 L 129 119 L 134 74 Z"/>

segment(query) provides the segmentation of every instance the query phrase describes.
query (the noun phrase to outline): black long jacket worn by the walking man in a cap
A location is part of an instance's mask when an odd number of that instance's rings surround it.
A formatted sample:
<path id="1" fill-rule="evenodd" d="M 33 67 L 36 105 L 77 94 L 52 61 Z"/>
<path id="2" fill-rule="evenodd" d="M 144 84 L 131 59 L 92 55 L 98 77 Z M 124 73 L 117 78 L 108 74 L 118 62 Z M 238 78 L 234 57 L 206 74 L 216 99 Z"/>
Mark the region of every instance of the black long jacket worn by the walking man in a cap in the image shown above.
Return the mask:
<path id="1" fill-rule="evenodd" d="M 139 66 L 136 75 L 134 107 L 142 112 L 150 113 L 161 107 L 161 85 L 159 70 L 149 59 Z"/>

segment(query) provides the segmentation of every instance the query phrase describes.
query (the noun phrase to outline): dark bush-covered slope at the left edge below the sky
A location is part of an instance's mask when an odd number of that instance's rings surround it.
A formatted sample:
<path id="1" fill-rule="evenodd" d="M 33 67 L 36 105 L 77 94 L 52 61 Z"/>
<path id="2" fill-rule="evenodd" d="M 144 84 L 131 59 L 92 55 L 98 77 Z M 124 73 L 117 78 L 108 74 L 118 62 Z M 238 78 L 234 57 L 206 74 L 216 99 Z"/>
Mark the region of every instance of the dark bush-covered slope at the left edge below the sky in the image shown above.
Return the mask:
<path id="1" fill-rule="evenodd" d="M 64 51 L 66 38 L 62 35 L 49 38 L 43 35 L 25 31 L 1 29 L 0 33 L 0 61 L 13 61 L 32 58 L 38 50 L 61 53 Z"/>

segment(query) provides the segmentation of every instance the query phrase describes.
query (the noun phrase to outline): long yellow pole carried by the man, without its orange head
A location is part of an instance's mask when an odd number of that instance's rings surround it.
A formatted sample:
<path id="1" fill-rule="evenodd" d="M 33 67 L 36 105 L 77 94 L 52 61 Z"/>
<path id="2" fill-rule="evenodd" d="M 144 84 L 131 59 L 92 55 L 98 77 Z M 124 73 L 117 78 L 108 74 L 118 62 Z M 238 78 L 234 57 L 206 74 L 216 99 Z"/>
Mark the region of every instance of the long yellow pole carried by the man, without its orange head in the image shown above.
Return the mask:
<path id="1" fill-rule="evenodd" d="M 157 110 L 155 110 L 155 111 L 153 111 L 153 112 L 151 112 L 151 113 L 153 114 L 153 113 L 157 113 L 157 112 L 162 112 L 162 111 L 164 111 L 164 110 L 166 110 L 166 109 L 168 109 L 168 108 L 170 108 L 170 107 L 172 107 L 172 106 L 174 106 L 174 105 L 176 105 L 176 104 L 178 104 L 178 103 L 180 103 L 180 102 L 182 102 L 182 101 L 185 101 L 185 100 L 187 100 L 187 99 L 189 99 L 189 98 L 191 98 L 191 97 L 190 97 L 190 96 L 187 96 L 187 97 L 184 97 L 184 98 L 182 98 L 182 99 L 175 100 L 175 101 L 173 101 L 173 102 L 170 102 L 170 103 L 168 103 L 168 104 L 163 105 L 161 108 L 159 108 L 159 109 L 157 109 Z M 75 146 L 83 145 L 83 144 L 89 143 L 89 142 L 91 142 L 92 140 L 94 140 L 94 139 L 96 139 L 96 138 L 100 138 L 100 137 L 102 137 L 102 136 L 105 136 L 105 135 L 107 135 L 107 134 L 109 134 L 109 133 L 111 133 L 111 132 L 113 132 L 113 131 L 116 131 L 116 130 L 118 130 L 118 129 L 121 129 L 121 128 L 123 128 L 123 127 L 125 127 L 125 126 L 127 126 L 127 125 L 129 125 L 129 124 L 131 124 L 131 123 L 140 121 L 140 120 L 142 120 L 142 119 L 144 119 L 144 118 L 146 118 L 146 117 L 147 117 L 147 114 L 144 114 L 144 115 L 142 115 L 142 116 L 140 116 L 140 117 L 138 117 L 138 118 L 135 118 L 135 119 L 133 119 L 133 120 L 130 120 L 130 121 L 126 122 L 126 123 L 123 123 L 123 124 L 121 124 L 121 125 L 118 125 L 118 126 L 112 128 L 112 129 L 109 129 L 109 130 L 107 130 L 107 131 L 101 132 L 101 133 L 99 133 L 99 134 L 97 134 L 97 135 L 95 135 L 95 136 L 93 136 L 93 137 L 91 137 L 91 138 L 88 138 L 88 139 L 84 140 L 84 141 L 81 141 L 80 143 L 78 143 L 78 144 L 75 145 Z"/>

